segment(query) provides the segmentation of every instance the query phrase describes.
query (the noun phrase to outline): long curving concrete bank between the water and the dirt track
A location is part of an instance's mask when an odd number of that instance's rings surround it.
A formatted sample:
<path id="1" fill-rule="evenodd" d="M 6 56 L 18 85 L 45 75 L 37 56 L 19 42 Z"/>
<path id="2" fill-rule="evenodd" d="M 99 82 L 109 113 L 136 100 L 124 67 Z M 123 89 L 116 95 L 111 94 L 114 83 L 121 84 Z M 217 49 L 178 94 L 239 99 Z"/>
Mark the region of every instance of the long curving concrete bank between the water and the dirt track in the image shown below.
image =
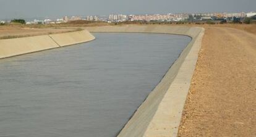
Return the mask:
<path id="1" fill-rule="evenodd" d="M 86 29 L 90 32 L 166 33 L 187 35 L 192 38 L 163 80 L 148 95 L 118 135 L 177 136 L 204 29 L 160 25 L 87 27 Z"/>

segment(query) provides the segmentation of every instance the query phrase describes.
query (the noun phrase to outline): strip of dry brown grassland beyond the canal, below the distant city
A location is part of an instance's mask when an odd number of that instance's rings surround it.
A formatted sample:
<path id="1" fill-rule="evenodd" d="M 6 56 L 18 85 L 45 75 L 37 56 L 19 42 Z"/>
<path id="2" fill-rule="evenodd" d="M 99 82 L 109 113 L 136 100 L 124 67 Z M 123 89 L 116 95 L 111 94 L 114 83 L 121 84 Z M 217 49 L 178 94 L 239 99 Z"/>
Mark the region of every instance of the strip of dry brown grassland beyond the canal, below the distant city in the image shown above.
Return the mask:
<path id="1" fill-rule="evenodd" d="M 122 22 L 117 25 L 145 25 L 144 23 L 139 22 Z M 6 38 L 18 38 L 23 36 L 35 36 L 35 35 L 47 35 L 54 33 L 63 33 L 67 31 L 81 30 L 82 27 L 94 27 L 94 26 L 106 26 L 106 25 L 115 25 L 115 23 L 106 23 L 106 22 L 88 22 L 88 21 L 76 21 L 69 23 L 61 24 L 49 24 L 49 25 L 4 25 L 0 26 L 0 39 Z M 151 24 L 148 24 L 151 25 Z M 194 26 L 194 27 L 224 27 L 224 28 L 236 28 L 238 30 L 244 30 L 250 33 L 256 34 L 256 24 L 164 24 L 160 23 L 159 25 L 171 25 L 171 26 Z"/>

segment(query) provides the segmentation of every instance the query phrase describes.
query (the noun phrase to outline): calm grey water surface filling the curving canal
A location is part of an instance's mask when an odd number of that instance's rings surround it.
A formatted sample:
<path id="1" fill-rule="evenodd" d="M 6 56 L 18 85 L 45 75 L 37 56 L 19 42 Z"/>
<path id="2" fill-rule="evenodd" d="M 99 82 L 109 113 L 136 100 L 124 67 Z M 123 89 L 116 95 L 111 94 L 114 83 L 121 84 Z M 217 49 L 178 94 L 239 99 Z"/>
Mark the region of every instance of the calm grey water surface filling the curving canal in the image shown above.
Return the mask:
<path id="1" fill-rule="evenodd" d="M 116 136 L 190 38 L 95 33 L 0 60 L 0 136 Z"/>

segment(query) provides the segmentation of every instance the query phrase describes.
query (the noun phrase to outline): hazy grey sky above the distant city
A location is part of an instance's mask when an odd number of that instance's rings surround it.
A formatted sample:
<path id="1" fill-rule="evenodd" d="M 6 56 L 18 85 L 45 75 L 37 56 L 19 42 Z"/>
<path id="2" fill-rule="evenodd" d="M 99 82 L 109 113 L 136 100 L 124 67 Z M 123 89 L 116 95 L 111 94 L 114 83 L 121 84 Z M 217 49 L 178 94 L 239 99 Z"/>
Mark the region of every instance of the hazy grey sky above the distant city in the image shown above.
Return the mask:
<path id="1" fill-rule="evenodd" d="M 0 19 L 252 10 L 256 0 L 0 0 Z"/>

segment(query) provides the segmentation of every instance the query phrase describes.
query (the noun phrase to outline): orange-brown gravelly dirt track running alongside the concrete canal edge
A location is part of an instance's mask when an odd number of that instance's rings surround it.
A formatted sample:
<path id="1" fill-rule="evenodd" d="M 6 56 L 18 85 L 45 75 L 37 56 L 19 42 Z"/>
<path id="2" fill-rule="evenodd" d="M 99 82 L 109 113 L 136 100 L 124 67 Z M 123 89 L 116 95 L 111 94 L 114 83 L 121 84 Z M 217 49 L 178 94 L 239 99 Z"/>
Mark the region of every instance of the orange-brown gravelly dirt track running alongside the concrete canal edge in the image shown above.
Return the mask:
<path id="1" fill-rule="evenodd" d="M 205 27 L 179 136 L 256 136 L 256 35 Z"/>

